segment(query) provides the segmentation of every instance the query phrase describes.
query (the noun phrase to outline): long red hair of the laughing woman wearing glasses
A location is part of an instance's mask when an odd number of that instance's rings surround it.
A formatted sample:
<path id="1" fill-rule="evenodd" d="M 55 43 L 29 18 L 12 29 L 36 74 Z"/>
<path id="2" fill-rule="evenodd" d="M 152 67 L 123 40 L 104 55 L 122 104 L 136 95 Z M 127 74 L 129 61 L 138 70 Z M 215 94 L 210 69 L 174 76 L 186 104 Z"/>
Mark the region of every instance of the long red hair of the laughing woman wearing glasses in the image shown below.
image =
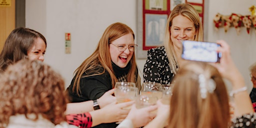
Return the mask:
<path id="1" fill-rule="evenodd" d="M 73 84 L 72 91 L 76 91 L 78 95 L 80 95 L 80 79 L 81 77 L 88 77 L 93 75 L 100 75 L 107 71 L 110 74 L 112 87 L 114 87 L 117 78 L 114 75 L 113 67 L 111 63 L 111 57 L 109 52 L 109 44 L 125 35 L 131 33 L 133 35 L 134 40 L 134 33 L 132 29 L 120 22 L 116 22 L 110 24 L 104 31 L 103 35 L 101 36 L 98 45 L 95 51 L 86 58 L 81 65 L 74 71 L 75 80 Z M 136 61 L 135 61 L 135 54 L 133 53 L 129 64 L 131 65 L 130 70 L 127 74 L 127 81 L 136 82 L 136 75 L 138 76 Z M 103 67 L 103 71 L 100 70 Z M 84 75 L 85 72 L 85 75 Z M 138 79 L 137 79 L 138 80 Z"/>

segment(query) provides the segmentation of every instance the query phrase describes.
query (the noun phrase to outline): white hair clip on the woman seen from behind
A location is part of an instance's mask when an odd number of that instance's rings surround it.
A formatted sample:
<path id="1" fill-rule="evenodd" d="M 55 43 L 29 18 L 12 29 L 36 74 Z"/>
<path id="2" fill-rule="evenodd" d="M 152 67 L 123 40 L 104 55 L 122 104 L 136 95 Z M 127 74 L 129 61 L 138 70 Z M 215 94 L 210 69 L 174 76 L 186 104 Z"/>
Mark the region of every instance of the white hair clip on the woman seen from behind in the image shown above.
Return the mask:
<path id="1" fill-rule="evenodd" d="M 212 93 L 215 88 L 216 88 L 216 83 L 213 79 L 209 79 L 206 84 L 206 79 L 203 74 L 198 75 L 199 79 L 199 87 L 200 87 L 200 93 L 201 93 L 201 98 L 206 98 L 207 96 L 207 91 L 209 93 Z"/>

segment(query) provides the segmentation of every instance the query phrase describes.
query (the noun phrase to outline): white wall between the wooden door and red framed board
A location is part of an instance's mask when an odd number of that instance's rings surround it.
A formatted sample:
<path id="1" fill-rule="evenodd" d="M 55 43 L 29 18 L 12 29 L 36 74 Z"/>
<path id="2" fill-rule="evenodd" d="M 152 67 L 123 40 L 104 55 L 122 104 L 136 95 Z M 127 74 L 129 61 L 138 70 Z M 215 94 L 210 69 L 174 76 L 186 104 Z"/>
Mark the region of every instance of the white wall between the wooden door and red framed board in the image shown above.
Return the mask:
<path id="1" fill-rule="evenodd" d="M 47 40 L 45 62 L 69 85 L 73 71 L 96 48 L 105 28 L 122 22 L 136 32 L 135 0 L 26 0 L 26 27 Z M 64 33 L 71 33 L 71 53 L 65 54 Z"/>

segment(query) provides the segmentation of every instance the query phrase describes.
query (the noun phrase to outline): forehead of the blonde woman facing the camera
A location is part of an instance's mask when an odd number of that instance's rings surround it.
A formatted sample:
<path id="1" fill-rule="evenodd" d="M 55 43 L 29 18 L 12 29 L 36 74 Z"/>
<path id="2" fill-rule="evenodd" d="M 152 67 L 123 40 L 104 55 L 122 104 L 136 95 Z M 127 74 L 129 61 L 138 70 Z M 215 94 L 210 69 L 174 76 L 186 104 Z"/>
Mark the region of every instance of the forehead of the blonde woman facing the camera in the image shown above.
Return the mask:
<path id="1" fill-rule="evenodd" d="M 171 27 L 194 27 L 194 23 L 183 15 L 177 15 L 172 19 Z"/>

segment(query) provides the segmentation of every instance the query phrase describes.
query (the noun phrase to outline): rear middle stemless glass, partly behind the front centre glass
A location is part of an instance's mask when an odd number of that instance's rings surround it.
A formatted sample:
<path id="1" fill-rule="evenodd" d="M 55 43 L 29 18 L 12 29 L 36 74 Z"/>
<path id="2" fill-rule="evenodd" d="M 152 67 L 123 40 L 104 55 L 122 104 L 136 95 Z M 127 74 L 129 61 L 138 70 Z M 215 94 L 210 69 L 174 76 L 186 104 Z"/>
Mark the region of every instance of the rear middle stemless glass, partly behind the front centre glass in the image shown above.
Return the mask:
<path id="1" fill-rule="evenodd" d="M 158 99 L 162 96 L 161 83 L 143 82 L 140 90 L 141 95 L 154 95 Z"/>

